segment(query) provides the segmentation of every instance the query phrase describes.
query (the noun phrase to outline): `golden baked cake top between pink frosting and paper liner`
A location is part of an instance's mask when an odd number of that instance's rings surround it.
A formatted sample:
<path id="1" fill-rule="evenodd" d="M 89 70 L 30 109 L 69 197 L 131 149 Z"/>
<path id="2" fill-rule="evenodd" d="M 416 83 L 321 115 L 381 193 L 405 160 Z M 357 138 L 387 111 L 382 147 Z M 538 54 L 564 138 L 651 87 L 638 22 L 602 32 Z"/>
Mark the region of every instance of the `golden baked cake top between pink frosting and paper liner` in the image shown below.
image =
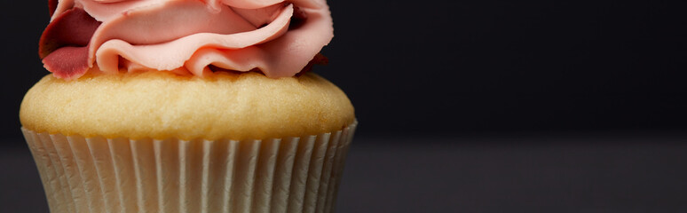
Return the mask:
<path id="1" fill-rule="evenodd" d="M 354 119 L 343 91 L 312 73 L 143 72 L 68 82 L 47 75 L 20 109 L 28 130 L 86 138 L 286 138 L 341 130 Z"/>

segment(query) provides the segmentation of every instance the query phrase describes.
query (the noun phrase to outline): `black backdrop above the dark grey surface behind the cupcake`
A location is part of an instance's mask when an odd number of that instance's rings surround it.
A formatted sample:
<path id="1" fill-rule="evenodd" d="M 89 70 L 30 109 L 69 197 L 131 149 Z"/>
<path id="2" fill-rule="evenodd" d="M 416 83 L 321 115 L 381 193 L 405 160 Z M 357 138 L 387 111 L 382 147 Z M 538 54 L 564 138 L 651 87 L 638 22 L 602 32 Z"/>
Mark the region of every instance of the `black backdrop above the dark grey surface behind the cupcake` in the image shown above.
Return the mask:
<path id="1" fill-rule="evenodd" d="M 47 75 L 45 1 L 4 1 L 2 127 Z M 680 1 L 329 1 L 328 66 L 359 136 L 684 130 L 687 19 Z"/>

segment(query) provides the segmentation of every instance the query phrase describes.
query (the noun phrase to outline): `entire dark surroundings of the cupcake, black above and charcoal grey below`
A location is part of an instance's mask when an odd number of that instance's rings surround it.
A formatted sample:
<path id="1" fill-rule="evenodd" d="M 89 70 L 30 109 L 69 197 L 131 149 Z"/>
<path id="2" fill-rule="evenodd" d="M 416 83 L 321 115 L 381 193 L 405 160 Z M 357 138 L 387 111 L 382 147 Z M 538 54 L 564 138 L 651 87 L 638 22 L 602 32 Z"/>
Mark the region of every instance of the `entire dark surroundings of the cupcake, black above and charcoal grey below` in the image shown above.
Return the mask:
<path id="1" fill-rule="evenodd" d="M 46 3 L 0 3 L 8 212 L 47 209 L 18 115 Z M 687 210 L 687 3 L 328 4 L 315 72 L 360 122 L 339 212 Z"/>

